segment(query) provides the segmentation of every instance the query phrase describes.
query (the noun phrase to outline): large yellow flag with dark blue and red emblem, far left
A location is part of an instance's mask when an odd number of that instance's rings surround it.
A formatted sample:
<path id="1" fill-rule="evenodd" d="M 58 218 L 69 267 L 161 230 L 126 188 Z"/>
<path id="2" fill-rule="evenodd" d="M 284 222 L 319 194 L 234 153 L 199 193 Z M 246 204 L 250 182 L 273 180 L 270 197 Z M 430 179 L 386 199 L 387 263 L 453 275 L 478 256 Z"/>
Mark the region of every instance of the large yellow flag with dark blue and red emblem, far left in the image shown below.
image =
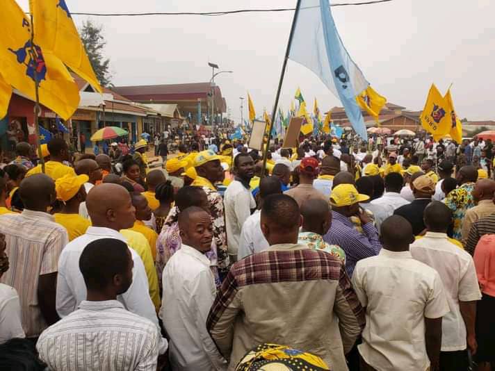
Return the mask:
<path id="1" fill-rule="evenodd" d="M 31 23 L 14 0 L 2 2 L 0 24 L 0 75 L 29 99 L 35 100 L 35 72 L 40 103 L 63 119 L 79 106 L 79 89 L 65 65 L 51 51 L 34 44 L 31 52 Z M 8 32 L 6 31 L 8 30 Z"/>

